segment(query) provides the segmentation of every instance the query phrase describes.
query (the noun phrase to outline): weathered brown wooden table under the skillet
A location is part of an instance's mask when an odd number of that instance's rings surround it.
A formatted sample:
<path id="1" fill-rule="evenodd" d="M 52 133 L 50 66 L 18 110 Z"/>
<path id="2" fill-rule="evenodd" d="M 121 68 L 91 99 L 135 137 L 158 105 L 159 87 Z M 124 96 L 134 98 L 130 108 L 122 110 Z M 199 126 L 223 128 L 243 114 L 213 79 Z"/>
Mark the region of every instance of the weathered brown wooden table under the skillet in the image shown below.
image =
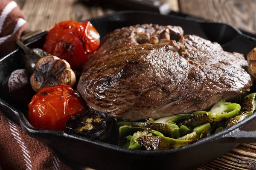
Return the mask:
<path id="1" fill-rule="evenodd" d="M 27 17 L 31 30 L 45 29 L 63 20 L 86 20 L 113 12 L 88 8 L 77 0 L 15 0 Z M 162 0 L 163 1 L 163 0 Z M 165 0 L 172 10 L 195 17 L 229 23 L 256 33 L 256 0 Z M 210 153 L 209 153 L 210 154 Z M 256 143 L 236 149 L 198 170 L 256 170 Z"/>

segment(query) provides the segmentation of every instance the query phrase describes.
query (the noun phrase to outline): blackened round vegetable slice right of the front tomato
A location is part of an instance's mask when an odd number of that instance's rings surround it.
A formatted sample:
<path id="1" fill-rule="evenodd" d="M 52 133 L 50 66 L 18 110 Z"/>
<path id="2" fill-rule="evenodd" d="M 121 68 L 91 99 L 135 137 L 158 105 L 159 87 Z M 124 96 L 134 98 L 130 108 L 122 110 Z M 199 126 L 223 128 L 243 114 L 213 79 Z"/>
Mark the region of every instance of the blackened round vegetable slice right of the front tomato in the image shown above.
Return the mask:
<path id="1" fill-rule="evenodd" d="M 112 118 L 107 113 L 88 110 L 72 116 L 66 123 L 66 130 L 68 133 L 104 141 L 108 139 L 112 125 Z"/>

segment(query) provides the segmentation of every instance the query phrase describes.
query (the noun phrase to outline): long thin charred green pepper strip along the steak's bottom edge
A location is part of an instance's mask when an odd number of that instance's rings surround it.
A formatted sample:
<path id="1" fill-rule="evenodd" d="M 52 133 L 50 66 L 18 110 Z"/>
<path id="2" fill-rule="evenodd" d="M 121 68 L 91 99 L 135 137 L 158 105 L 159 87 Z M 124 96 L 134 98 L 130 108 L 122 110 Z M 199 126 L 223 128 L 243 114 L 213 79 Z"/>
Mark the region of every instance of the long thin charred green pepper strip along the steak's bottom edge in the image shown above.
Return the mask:
<path id="1" fill-rule="evenodd" d="M 116 122 L 116 125 L 131 125 L 131 126 L 141 126 L 146 127 L 147 130 L 157 130 L 160 133 L 163 133 L 164 136 L 171 138 L 180 137 L 179 127 L 175 124 L 163 124 L 163 123 L 147 123 L 147 122 Z"/>

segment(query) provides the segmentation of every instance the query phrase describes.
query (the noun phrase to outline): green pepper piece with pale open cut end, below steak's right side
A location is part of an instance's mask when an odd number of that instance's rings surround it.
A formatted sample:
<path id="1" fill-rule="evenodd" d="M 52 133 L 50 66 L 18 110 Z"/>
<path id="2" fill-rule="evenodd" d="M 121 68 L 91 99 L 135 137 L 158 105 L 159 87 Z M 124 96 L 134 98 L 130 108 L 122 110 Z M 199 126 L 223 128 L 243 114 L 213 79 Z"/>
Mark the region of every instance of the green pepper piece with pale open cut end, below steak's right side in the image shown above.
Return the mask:
<path id="1" fill-rule="evenodd" d="M 224 99 L 221 99 L 213 105 L 210 111 L 196 111 L 192 113 L 194 115 L 192 118 L 184 120 L 180 125 L 196 127 L 206 123 L 221 122 L 236 116 L 240 108 L 239 104 L 225 102 Z"/>

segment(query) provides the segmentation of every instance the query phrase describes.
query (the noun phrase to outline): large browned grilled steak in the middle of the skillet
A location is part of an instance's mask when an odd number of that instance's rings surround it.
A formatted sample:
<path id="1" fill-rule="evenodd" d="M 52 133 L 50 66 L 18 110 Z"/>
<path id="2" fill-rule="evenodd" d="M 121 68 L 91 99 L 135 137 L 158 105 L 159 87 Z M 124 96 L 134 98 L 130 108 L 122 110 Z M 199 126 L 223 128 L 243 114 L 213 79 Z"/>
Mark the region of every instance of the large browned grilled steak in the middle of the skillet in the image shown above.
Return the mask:
<path id="1" fill-rule="evenodd" d="M 176 40 L 180 37 L 180 40 Z M 248 91 L 239 53 L 175 26 L 137 25 L 108 34 L 84 66 L 77 90 L 90 108 L 125 120 L 207 110 Z"/>

